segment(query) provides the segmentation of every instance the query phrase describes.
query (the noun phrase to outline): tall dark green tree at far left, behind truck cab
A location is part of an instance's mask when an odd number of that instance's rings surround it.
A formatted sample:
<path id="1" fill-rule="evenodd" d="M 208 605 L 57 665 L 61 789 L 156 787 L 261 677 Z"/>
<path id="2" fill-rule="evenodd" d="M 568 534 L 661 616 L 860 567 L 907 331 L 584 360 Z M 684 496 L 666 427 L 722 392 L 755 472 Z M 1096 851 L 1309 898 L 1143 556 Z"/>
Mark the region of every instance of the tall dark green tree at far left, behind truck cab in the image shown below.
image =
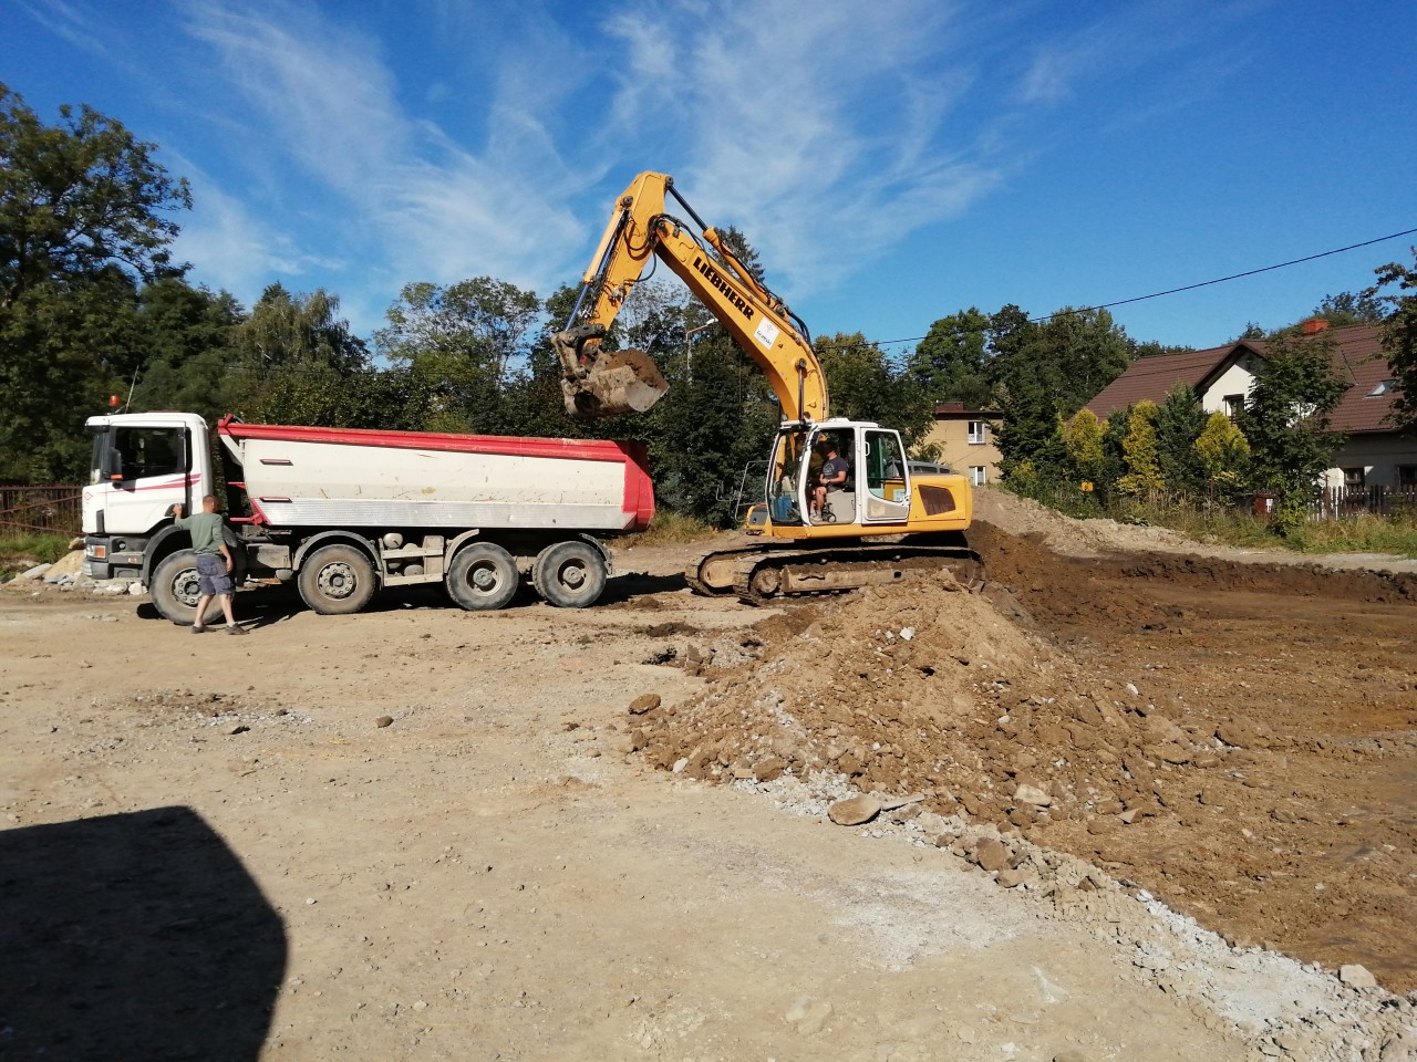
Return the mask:
<path id="1" fill-rule="evenodd" d="M 180 272 L 166 214 L 191 205 L 154 150 L 86 106 L 44 125 L 0 85 L 0 476 L 82 477 L 82 411 L 132 381 L 139 282 Z"/>

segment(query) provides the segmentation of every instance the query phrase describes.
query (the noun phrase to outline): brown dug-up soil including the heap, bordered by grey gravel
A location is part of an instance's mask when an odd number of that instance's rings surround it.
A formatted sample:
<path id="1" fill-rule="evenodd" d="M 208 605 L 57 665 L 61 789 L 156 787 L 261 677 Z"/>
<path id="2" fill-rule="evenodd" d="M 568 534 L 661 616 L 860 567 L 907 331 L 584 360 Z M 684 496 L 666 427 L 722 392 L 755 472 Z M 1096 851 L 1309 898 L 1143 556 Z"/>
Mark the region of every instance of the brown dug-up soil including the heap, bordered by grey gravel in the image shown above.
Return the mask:
<path id="1" fill-rule="evenodd" d="M 1417 930 L 1393 930 L 1417 872 L 1411 575 L 1063 556 L 989 524 L 971 544 L 983 595 L 941 572 L 690 634 L 674 663 L 711 684 L 628 721 L 628 748 L 694 779 L 918 793 L 1233 940 L 1417 984 Z"/>

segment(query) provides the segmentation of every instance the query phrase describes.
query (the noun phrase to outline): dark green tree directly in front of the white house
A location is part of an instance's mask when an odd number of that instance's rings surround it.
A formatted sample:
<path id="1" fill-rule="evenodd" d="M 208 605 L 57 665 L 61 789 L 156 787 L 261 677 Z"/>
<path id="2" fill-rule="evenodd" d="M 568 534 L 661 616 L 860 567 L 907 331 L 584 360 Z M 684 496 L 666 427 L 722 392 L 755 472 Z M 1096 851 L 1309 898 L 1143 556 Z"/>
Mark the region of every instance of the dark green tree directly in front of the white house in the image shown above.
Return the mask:
<path id="1" fill-rule="evenodd" d="M 1326 331 L 1281 333 L 1265 346 L 1264 368 L 1237 416 L 1251 450 L 1257 487 L 1278 494 L 1274 527 L 1298 528 L 1319 494 L 1343 436 L 1329 430 L 1329 415 L 1348 382 L 1333 370 L 1335 341 Z"/>

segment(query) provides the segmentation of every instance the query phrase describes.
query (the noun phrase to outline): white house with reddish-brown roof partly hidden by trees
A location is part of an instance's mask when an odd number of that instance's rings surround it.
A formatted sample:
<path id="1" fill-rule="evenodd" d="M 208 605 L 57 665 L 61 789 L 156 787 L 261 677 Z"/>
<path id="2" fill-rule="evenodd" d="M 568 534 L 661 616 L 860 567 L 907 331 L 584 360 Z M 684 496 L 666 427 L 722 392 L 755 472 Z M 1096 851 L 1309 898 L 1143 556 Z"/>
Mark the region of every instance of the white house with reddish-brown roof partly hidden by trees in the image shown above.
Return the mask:
<path id="1" fill-rule="evenodd" d="M 1333 340 L 1333 367 L 1349 388 L 1329 416 L 1346 436 L 1325 473 L 1325 487 L 1399 487 L 1417 484 L 1417 438 L 1399 435 L 1387 422 L 1393 412 L 1393 374 L 1376 324 L 1329 329 L 1325 320 L 1304 323 L 1305 334 Z M 1144 398 L 1161 405 L 1176 384 L 1189 384 L 1207 413 L 1234 416 L 1264 364 L 1265 340 L 1236 340 L 1210 350 L 1138 358 L 1087 404 L 1101 418 Z"/>

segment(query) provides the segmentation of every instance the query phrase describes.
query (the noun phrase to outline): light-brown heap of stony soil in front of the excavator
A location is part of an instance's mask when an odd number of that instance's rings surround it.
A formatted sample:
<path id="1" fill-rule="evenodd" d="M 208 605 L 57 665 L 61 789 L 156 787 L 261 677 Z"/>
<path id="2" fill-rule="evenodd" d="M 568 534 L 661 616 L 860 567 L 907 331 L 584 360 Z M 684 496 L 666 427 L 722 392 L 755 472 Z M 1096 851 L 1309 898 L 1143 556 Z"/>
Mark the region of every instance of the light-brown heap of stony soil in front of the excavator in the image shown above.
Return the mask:
<path id="1" fill-rule="evenodd" d="M 1169 705 L 1085 677 L 985 596 L 941 599 L 951 588 L 888 586 L 758 624 L 757 664 L 648 715 L 636 746 L 691 777 L 830 770 L 1022 830 L 1165 814 L 1185 789 L 1172 776 L 1219 762 Z"/>

